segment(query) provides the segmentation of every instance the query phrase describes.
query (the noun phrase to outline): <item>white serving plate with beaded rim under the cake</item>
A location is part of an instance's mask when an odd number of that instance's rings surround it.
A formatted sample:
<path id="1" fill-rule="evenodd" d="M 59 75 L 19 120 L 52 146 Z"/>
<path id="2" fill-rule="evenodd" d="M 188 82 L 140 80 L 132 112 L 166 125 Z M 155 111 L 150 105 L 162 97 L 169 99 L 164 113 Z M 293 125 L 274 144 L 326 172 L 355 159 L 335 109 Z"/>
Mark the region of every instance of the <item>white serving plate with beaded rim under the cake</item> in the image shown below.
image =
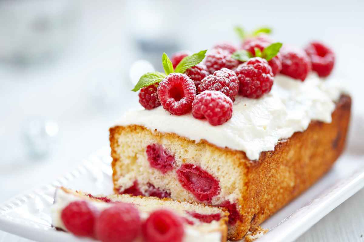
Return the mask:
<path id="1" fill-rule="evenodd" d="M 94 194 L 112 193 L 110 163 L 110 149 L 100 149 L 78 169 L 53 184 L 25 192 L 1 204 L 0 230 L 40 242 L 93 241 L 55 230 L 51 226 L 50 206 L 56 186 Z M 262 224 L 270 231 L 257 242 L 293 241 L 363 187 L 363 155 L 344 153 L 327 175 Z"/>

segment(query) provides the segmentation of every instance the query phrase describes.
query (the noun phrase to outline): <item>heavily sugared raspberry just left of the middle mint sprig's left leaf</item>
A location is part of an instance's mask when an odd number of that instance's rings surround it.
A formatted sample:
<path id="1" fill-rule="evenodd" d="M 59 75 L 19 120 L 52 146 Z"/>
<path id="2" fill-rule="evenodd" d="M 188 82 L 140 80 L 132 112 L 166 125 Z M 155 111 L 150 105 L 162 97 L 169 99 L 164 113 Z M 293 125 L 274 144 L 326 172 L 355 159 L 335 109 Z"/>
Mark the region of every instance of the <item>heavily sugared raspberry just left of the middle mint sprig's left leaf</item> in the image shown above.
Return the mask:
<path id="1" fill-rule="evenodd" d="M 215 71 L 224 67 L 227 69 L 233 69 L 239 65 L 239 61 L 231 57 L 231 54 L 227 50 L 213 49 L 205 57 L 205 65 L 207 69 L 213 74 Z"/>

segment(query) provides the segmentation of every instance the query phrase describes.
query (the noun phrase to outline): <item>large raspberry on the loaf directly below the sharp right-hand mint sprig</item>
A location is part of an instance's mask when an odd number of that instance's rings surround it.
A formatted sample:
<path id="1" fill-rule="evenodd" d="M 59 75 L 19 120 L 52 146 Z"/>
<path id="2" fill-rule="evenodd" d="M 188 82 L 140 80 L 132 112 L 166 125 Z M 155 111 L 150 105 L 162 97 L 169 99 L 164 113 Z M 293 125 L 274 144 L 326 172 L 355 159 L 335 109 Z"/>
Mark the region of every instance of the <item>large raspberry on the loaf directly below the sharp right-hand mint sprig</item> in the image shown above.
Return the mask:
<path id="1" fill-rule="evenodd" d="M 273 85 L 272 67 L 260 57 L 250 58 L 236 69 L 240 81 L 239 92 L 248 98 L 260 98 Z"/>

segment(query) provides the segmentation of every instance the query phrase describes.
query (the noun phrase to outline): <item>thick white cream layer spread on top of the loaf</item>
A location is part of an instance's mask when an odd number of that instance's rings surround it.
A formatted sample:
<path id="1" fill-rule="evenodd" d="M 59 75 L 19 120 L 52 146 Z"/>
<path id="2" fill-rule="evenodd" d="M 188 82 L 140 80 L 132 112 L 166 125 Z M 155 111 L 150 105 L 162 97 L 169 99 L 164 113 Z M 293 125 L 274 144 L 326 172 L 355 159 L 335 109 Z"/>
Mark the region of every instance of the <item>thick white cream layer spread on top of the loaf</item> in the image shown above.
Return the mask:
<path id="1" fill-rule="evenodd" d="M 244 151 L 250 160 L 272 151 L 281 139 L 307 129 L 311 120 L 331 122 L 335 101 L 342 90 L 311 73 L 304 82 L 277 75 L 270 93 L 259 99 L 236 97 L 233 116 L 211 126 L 192 114 L 171 115 L 162 106 L 126 112 L 116 125 L 138 124 L 154 131 L 175 133 L 195 142 L 206 140 L 218 147 Z"/>

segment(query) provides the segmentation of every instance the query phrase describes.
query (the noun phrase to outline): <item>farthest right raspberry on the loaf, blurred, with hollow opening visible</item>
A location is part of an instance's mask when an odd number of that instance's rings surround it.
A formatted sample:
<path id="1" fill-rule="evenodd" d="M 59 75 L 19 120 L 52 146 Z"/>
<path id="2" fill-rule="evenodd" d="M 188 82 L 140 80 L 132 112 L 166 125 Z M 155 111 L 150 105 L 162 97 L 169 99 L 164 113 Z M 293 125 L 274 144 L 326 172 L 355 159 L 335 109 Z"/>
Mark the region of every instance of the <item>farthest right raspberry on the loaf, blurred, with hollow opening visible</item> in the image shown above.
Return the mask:
<path id="1" fill-rule="evenodd" d="M 305 49 L 311 59 L 312 70 L 316 71 L 318 76 L 327 77 L 330 75 L 335 63 L 334 52 L 321 42 L 311 42 Z"/>

